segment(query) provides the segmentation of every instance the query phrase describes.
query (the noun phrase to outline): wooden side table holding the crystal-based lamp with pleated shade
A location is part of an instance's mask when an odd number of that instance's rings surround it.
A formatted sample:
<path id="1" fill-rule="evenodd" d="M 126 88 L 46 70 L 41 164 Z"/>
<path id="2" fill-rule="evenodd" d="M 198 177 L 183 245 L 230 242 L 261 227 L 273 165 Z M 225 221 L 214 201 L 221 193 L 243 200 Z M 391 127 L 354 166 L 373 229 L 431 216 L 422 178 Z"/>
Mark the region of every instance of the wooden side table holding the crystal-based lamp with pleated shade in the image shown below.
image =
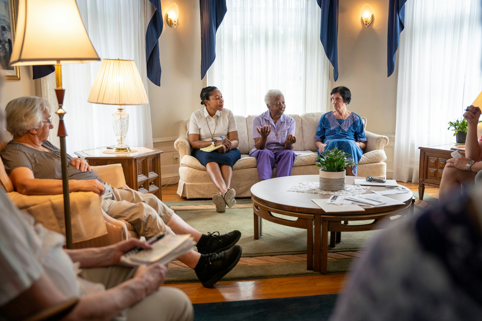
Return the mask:
<path id="1" fill-rule="evenodd" d="M 75 152 L 91 166 L 121 164 L 127 186 L 141 193 L 161 195 L 161 153 L 155 148 L 131 147 L 137 152 L 128 154 L 104 154 L 106 148 Z"/>

